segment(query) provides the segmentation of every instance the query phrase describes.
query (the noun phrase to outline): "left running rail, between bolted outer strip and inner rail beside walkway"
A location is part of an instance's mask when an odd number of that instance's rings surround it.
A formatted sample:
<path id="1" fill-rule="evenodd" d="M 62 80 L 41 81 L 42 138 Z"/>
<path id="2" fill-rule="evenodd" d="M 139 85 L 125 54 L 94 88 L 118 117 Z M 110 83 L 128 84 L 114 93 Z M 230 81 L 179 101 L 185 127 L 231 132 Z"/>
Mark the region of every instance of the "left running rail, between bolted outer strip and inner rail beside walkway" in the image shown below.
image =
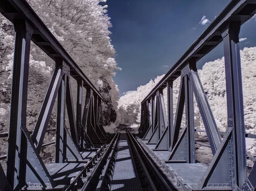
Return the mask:
<path id="1" fill-rule="evenodd" d="M 115 150 L 115 148 L 118 146 L 118 142 L 119 142 L 119 138 L 120 138 L 120 131 L 118 131 L 116 133 L 116 136 L 114 137 L 114 139 L 112 140 L 109 148 L 104 155 L 101 157 L 100 161 L 97 163 L 97 165 L 95 166 L 95 168 L 93 169 L 92 173 L 90 174 L 90 176 L 88 177 L 87 181 L 85 182 L 85 184 L 83 185 L 83 187 L 81 188 L 80 191 L 87 191 L 87 190 L 95 190 L 97 187 L 97 181 L 96 179 L 99 177 L 99 174 L 102 172 L 102 169 L 104 167 L 104 164 L 106 162 L 106 158 L 108 156 L 111 156 L 111 153 L 113 153 L 113 151 Z M 95 186 L 95 188 L 94 188 Z"/>

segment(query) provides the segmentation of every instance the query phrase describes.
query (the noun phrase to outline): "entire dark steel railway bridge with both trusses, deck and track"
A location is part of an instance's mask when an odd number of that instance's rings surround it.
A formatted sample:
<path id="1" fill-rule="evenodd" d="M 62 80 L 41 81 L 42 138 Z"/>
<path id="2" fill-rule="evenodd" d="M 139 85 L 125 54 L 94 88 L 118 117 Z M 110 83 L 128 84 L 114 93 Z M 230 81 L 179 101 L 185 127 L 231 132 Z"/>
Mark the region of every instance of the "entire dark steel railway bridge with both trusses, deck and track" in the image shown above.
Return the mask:
<path id="1" fill-rule="evenodd" d="M 244 128 L 239 49 L 240 28 L 256 14 L 256 0 L 231 0 L 141 102 L 138 132 L 120 125 L 113 134 L 103 127 L 101 93 L 26 0 L 0 0 L 0 12 L 16 32 L 9 132 L 0 133 L 0 138 L 8 137 L 8 151 L 0 156 L 6 161 L 6 167 L 0 166 L 0 191 L 256 190 L 255 163 L 247 171 L 247 160 L 255 162 L 256 158 L 247 156 L 245 139 L 256 135 Z M 29 131 L 31 41 L 55 61 L 55 69 L 34 130 Z M 227 93 L 225 132 L 218 130 L 196 67 L 221 42 Z M 173 81 L 178 77 L 180 90 L 173 115 Z M 76 112 L 71 78 L 77 82 Z M 195 129 L 193 96 L 205 130 Z M 56 128 L 48 129 L 55 100 Z M 44 136 L 50 131 L 56 139 L 46 143 Z M 196 131 L 206 133 L 208 144 L 196 141 Z M 44 164 L 40 152 L 49 145 L 55 146 L 55 160 Z M 209 164 L 195 159 L 195 145 L 210 148 L 213 158 Z"/>

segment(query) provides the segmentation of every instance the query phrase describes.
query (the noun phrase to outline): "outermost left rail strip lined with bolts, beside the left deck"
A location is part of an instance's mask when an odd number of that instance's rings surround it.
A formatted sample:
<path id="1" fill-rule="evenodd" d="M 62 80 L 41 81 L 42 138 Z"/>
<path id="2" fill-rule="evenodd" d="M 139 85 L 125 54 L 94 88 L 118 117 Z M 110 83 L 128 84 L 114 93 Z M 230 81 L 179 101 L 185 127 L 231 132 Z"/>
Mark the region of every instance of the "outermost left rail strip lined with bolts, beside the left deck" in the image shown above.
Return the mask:
<path id="1" fill-rule="evenodd" d="M 118 132 L 117 132 L 118 133 Z M 111 149 L 111 144 L 114 142 L 114 140 L 116 139 L 116 134 L 112 135 L 108 141 L 102 146 L 102 148 L 100 148 L 96 153 L 95 155 L 93 156 L 92 159 L 90 159 L 87 164 L 84 165 L 84 168 L 79 172 L 79 174 L 76 175 L 76 178 L 72 180 L 72 182 L 70 183 L 70 185 L 65 188 L 65 191 L 70 191 L 73 189 L 73 187 L 75 186 L 75 184 L 77 182 L 79 182 L 79 180 L 81 179 L 81 177 L 83 175 L 86 176 L 86 173 L 88 170 L 92 169 L 96 164 L 97 162 L 100 160 L 101 157 L 103 157 L 108 150 Z M 99 159 L 99 160 L 98 160 Z"/>

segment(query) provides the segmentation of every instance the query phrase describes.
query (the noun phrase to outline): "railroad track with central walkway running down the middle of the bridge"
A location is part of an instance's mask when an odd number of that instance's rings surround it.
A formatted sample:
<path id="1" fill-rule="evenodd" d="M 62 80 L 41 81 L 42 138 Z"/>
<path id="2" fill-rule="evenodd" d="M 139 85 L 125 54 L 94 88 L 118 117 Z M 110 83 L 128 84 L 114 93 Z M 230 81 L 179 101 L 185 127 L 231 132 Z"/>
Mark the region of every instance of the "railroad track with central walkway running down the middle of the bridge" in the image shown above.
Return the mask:
<path id="1" fill-rule="evenodd" d="M 177 190 L 128 129 L 119 130 L 106 147 L 101 158 L 96 161 L 94 156 L 87 170 L 81 171 L 66 191 L 72 188 L 79 191 Z"/>

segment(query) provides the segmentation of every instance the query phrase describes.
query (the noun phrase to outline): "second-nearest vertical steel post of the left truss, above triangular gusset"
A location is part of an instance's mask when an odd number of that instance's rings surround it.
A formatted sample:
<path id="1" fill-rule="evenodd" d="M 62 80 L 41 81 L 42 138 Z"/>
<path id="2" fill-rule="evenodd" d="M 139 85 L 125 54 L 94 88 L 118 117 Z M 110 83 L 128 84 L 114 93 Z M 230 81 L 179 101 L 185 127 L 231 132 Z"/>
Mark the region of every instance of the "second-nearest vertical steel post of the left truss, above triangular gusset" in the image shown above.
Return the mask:
<path id="1" fill-rule="evenodd" d="M 67 75 L 63 75 L 58 90 L 55 162 L 64 163 L 67 153 L 65 125 Z"/>

